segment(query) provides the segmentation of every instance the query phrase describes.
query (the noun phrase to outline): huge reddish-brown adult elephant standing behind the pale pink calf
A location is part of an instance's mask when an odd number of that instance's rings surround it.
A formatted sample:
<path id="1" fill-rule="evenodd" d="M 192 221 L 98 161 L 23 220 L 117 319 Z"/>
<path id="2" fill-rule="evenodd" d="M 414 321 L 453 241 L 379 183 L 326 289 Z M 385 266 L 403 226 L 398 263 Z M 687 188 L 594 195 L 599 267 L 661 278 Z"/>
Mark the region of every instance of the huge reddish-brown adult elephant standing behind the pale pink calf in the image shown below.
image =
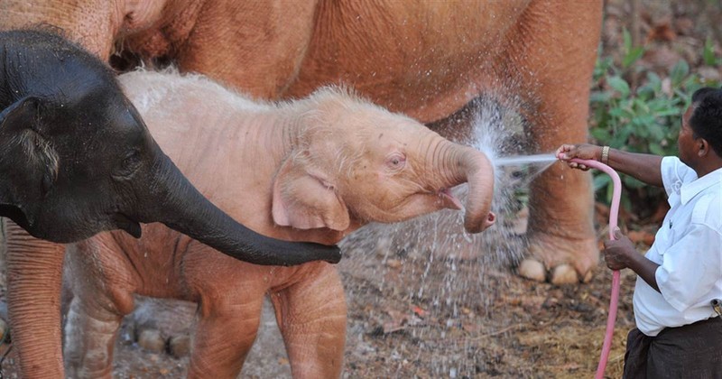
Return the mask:
<path id="1" fill-rule="evenodd" d="M 449 135 L 471 100 L 514 104 L 539 152 L 587 140 L 602 1 L 4 0 L 1 27 L 50 23 L 105 60 L 173 60 L 255 97 L 346 83 Z M 511 100 L 511 101 L 510 101 Z M 532 183 L 523 276 L 588 281 L 597 265 L 588 173 Z"/>

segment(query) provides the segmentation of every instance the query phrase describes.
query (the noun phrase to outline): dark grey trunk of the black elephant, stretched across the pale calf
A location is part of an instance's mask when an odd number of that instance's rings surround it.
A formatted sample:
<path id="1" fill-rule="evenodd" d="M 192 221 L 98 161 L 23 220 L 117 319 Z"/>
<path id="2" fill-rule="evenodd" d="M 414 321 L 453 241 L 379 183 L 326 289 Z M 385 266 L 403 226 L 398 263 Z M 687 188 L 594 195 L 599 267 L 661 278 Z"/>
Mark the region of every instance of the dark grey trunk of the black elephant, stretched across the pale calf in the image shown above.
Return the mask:
<path id="1" fill-rule="evenodd" d="M 141 222 L 160 221 L 241 261 L 265 265 L 293 265 L 315 260 L 338 263 L 337 246 L 286 242 L 261 236 L 239 224 L 195 189 L 171 162 L 159 152 L 151 184 L 156 199 L 137 217 Z"/>

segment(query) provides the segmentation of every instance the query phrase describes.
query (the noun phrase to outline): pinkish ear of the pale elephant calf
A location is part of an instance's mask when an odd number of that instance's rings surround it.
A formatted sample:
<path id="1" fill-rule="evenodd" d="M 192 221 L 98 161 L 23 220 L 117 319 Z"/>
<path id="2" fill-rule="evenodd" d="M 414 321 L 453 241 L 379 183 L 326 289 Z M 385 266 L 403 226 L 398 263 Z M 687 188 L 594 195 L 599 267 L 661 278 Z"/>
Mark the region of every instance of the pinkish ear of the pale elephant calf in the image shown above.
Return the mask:
<path id="1" fill-rule="evenodd" d="M 297 229 L 346 230 L 348 208 L 326 175 L 310 172 L 304 162 L 286 159 L 273 180 L 273 222 Z"/>

